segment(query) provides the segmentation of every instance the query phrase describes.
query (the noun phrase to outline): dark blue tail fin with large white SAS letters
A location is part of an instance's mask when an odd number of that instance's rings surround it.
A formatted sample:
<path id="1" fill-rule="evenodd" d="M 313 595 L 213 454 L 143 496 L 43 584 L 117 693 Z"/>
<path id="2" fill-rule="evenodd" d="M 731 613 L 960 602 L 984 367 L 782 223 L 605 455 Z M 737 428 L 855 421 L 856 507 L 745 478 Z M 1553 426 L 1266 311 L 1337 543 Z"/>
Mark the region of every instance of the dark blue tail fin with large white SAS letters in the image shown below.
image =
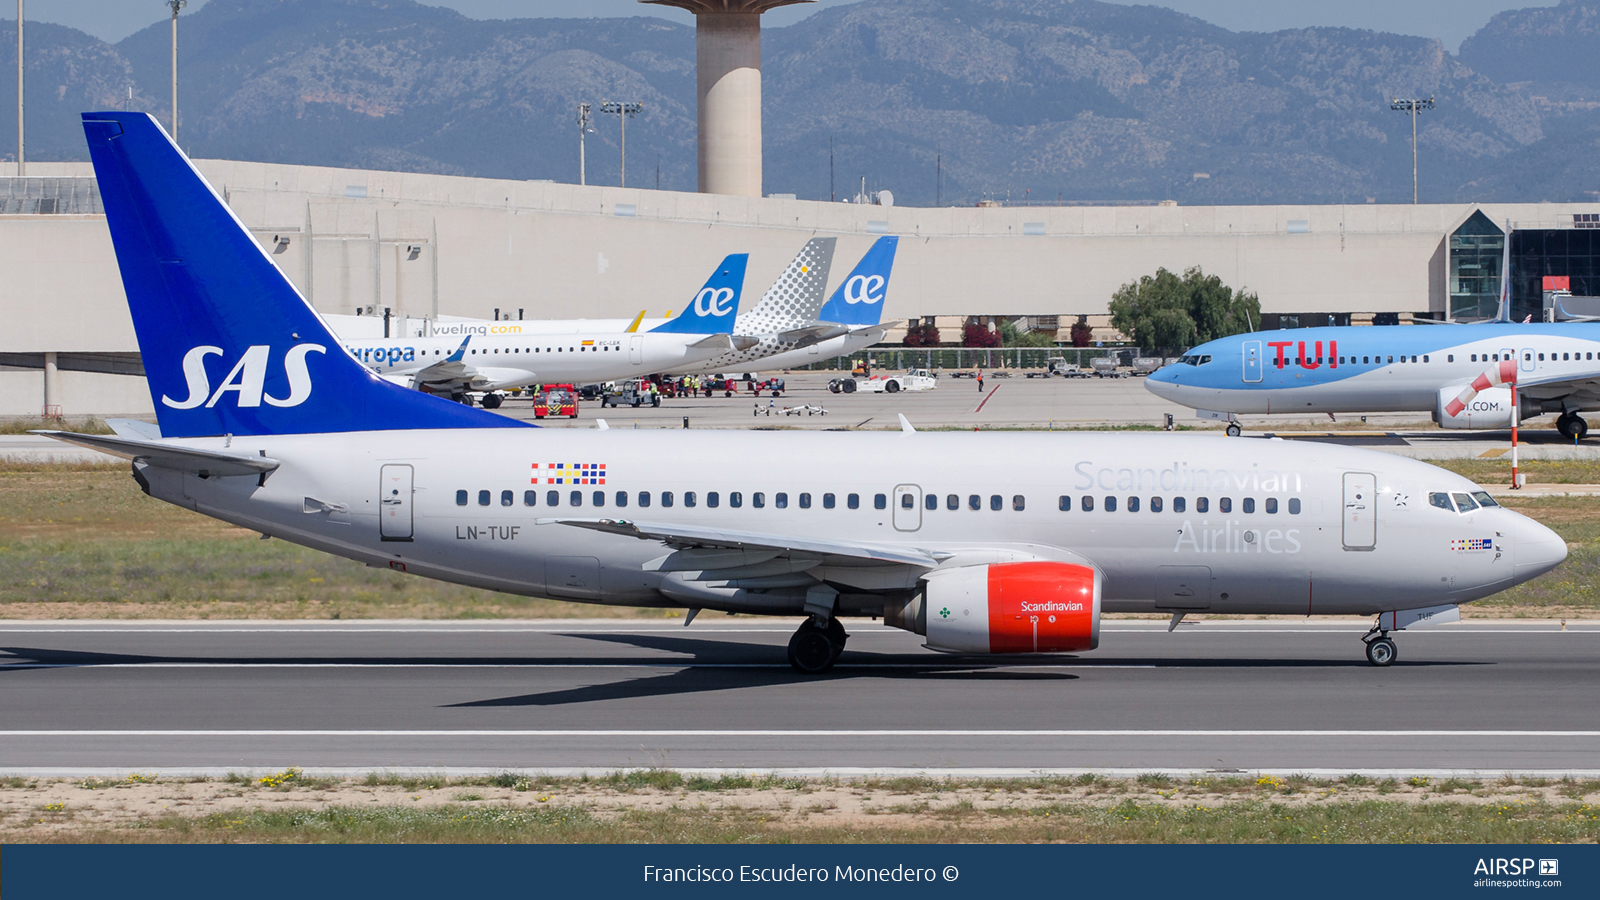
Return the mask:
<path id="1" fill-rule="evenodd" d="M 522 424 L 350 357 L 147 114 L 83 133 L 163 437 Z"/>

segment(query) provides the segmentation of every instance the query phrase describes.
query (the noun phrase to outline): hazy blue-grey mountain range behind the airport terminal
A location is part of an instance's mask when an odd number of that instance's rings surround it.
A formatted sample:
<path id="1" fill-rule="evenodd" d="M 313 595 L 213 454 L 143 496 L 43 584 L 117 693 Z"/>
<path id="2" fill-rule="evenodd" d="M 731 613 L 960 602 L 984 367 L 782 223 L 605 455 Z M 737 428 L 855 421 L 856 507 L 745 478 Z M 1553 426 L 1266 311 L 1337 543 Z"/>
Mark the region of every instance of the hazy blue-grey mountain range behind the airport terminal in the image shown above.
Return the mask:
<path id="1" fill-rule="evenodd" d="M 694 30 L 469 19 L 413 0 L 210 0 L 181 19 L 197 157 L 578 181 L 579 101 L 640 101 L 629 181 L 694 189 Z M 10 30 L 8 30 L 10 29 Z M 10 35 L 10 37 L 8 37 Z M 77 114 L 170 122 L 170 26 L 27 30 L 29 159 L 85 159 Z M 14 22 L 0 98 L 14 96 Z M 1600 0 L 1494 16 L 1446 53 L 1355 29 L 1230 32 L 1098 0 L 862 0 L 763 37 L 765 189 L 901 203 L 1600 199 Z M 11 78 L 10 82 L 6 78 Z M 130 99 L 131 91 L 131 99 Z M 619 175 L 597 115 L 590 183 Z M 16 144 L 0 115 L 0 147 Z"/>

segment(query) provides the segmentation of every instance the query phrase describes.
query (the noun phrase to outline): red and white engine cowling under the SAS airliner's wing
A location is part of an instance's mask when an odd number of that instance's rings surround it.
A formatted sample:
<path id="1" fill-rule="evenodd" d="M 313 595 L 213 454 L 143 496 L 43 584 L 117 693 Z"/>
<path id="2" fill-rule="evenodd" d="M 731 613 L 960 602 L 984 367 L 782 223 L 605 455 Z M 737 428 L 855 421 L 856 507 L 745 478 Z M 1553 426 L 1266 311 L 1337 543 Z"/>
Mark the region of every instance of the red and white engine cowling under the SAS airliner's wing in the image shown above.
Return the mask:
<path id="1" fill-rule="evenodd" d="M 1101 575 L 1072 562 L 997 562 L 930 572 L 928 647 L 1058 653 L 1099 647 Z"/>

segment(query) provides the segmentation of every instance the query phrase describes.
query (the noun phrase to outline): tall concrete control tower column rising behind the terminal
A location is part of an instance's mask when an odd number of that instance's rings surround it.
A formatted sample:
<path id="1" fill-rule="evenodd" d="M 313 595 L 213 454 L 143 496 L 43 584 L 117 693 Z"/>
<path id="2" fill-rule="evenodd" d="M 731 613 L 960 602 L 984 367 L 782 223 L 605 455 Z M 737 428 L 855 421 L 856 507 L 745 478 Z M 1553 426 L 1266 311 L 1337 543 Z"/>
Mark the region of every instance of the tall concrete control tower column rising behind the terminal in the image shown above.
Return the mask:
<path id="1" fill-rule="evenodd" d="M 762 195 L 762 13 L 813 0 L 640 0 L 694 13 L 701 194 Z"/>

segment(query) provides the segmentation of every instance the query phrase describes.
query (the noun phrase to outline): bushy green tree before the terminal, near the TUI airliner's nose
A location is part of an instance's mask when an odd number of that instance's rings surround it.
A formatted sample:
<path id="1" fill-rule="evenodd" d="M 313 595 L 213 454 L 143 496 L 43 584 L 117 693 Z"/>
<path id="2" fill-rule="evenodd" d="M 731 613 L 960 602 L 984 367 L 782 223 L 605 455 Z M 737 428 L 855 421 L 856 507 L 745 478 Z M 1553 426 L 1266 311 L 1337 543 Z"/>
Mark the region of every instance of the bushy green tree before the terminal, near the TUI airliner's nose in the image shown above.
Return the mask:
<path id="1" fill-rule="evenodd" d="M 1122 285 L 1110 299 L 1110 323 L 1157 352 L 1251 331 L 1259 320 L 1256 295 L 1235 291 L 1198 266 L 1186 269 L 1182 277 L 1157 269 Z"/>

